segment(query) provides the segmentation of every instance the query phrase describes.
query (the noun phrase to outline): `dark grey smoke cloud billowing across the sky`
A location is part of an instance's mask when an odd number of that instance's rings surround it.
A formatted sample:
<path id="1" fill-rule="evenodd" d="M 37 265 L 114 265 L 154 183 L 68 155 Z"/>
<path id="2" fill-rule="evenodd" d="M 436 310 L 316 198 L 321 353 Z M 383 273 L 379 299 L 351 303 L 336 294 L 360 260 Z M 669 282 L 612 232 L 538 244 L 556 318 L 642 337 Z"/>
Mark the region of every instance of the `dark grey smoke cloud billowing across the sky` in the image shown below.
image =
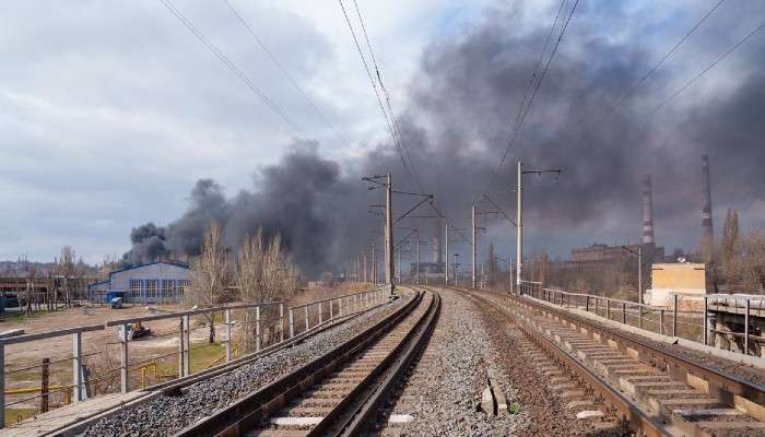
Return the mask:
<path id="1" fill-rule="evenodd" d="M 708 35 L 735 21 L 737 11 L 720 10 L 714 23 L 695 36 L 702 44 L 687 48 L 692 52 L 679 64 L 670 62 L 651 78 L 645 93 L 620 106 L 626 91 L 661 54 L 632 43 L 633 38 L 603 38 L 592 32 L 605 13 L 620 20 L 626 15 L 617 3 L 598 8 L 582 5 L 577 12 L 496 179 L 493 172 L 552 19 L 519 29 L 511 23 L 521 21 L 522 8 L 496 7 L 480 24 L 426 47 L 407 93 L 408 106 L 398 117 L 422 189 L 436 196 L 449 222 L 469 223 L 470 205 L 483 192 L 511 213 L 518 160 L 529 168 L 563 169 L 560 179 L 533 175 L 525 179 L 530 247 L 544 246 L 563 256 L 572 245 L 639 239 L 644 174 L 654 176 L 657 244 L 694 249 L 701 236 L 704 153 L 711 160 L 716 212 L 733 206 L 745 214 L 748 208 L 762 204 L 765 73 L 741 64 L 765 58 L 765 44 L 752 40 L 742 48 L 735 81 L 725 82 L 723 91 L 715 92 L 715 85 L 725 78 L 710 74 L 704 79 L 705 93 L 690 88 L 646 120 L 644 115 L 682 83 L 678 75 L 687 78 L 706 64 L 696 59 L 694 47 L 709 51 Z M 765 12 L 765 7 L 752 8 Z M 695 62 L 685 63 L 688 59 Z M 720 69 L 725 71 L 725 66 Z M 251 191 L 226 199 L 214 181 L 198 181 L 180 218 L 166 228 L 150 223 L 133 229 L 133 248 L 126 258 L 145 260 L 164 251 L 195 255 L 214 218 L 233 247 L 262 227 L 267 236 L 281 233 L 304 272 L 337 270 L 365 249 L 381 227 L 379 218 L 367 214 L 367 204 L 380 203 L 381 190 L 367 191 L 358 177 L 387 172 L 392 172 L 397 189 L 420 190 L 391 143 L 339 163 L 322 157 L 318 144 L 298 141 L 280 163 L 258 173 Z M 401 212 L 415 201 L 397 197 L 395 209 Z M 752 224 L 765 224 L 765 217 L 750 218 Z M 509 234 L 501 221 L 487 220 L 484 225 L 492 236 Z M 404 220 L 402 226 L 432 225 Z M 404 232 L 397 229 L 397 239 Z"/>

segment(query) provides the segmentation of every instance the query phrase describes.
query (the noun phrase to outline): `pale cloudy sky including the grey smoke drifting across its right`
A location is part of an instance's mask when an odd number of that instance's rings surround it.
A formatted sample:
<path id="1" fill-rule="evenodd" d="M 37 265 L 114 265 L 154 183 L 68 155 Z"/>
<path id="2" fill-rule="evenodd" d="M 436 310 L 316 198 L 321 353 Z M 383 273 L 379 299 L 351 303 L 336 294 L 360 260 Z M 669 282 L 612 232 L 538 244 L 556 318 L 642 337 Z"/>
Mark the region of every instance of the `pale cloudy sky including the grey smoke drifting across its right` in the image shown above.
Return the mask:
<path id="1" fill-rule="evenodd" d="M 273 185 L 274 169 L 289 167 L 295 144 L 306 141 L 318 157 L 337 164 L 345 200 L 364 201 L 365 187 L 358 184 L 362 194 L 349 194 L 346 184 L 364 170 L 391 170 L 403 179 L 339 3 L 229 2 L 321 115 L 274 67 L 225 0 L 173 4 L 296 129 L 162 1 L 0 5 L 0 204 L 5 205 L 0 259 L 26 255 L 46 261 L 62 245 L 91 263 L 121 256 L 131 247 L 131 228 L 148 222 L 167 226 L 193 210 L 191 190 L 198 180 L 213 179 L 229 199 L 258 194 Z M 693 249 L 701 235 L 702 153 L 713 160 L 718 229 L 729 206 L 740 211 L 745 226 L 765 225 L 765 147 L 756 120 L 765 33 L 666 108 L 642 118 L 761 24 L 764 5 L 725 2 L 626 109 L 599 126 L 619 96 L 716 2 L 580 2 L 508 161 L 564 168 L 557 180 L 530 181 L 529 250 L 565 256 L 574 245 L 636 241 L 637 178 L 644 173 L 655 178 L 657 240 L 668 251 Z M 353 3 L 344 4 L 353 20 Z M 416 149 L 412 164 L 458 225 L 469 223 L 470 203 L 481 188 L 470 177 L 460 181 L 455 172 L 474 164 L 485 173 L 498 162 L 502 138 L 558 4 L 358 1 L 404 138 Z M 572 5 L 566 2 L 566 10 Z M 599 132 L 589 138 L 587 129 Z M 458 163 L 452 168 L 432 156 Z M 501 185 L 513 180 L 511 168 L 501 168 Z M 299 172 L 289 175 L 301 177 Z M 510 194 L 496 196 L 505 196 L 509 210 Z M 365 204 L 354 208 L 366 211 Z M 327 211 L 317 220 L 329 226 L 337 222 Z M 486 238 L 508 256 L 511 231 L 498 221 L 486 226 Z M 358 247 L 334 250 L 332 257 L 340 260 L 353 250 Z"/>

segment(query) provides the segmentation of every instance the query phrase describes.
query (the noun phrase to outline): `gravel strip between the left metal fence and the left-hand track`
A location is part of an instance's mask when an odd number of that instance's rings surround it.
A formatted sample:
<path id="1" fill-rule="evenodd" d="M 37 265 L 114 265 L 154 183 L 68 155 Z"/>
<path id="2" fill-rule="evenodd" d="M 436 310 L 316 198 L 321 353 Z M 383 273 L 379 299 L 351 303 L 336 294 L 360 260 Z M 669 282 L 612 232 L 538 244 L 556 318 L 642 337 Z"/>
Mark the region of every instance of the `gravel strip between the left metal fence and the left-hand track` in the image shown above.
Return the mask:
<path id="1" fill-rule="evenodd" d="M 170 436 L 181 428 L 228 406 L 310 359 L 331 351 L 373 321 L 398 308 L 407 297 L 331 328 L 292 347 L 252 364 L 205 379 L 177 397 L 161 395 L 136 408 L 118 411 L 90 426 L 84 436 Z"/>

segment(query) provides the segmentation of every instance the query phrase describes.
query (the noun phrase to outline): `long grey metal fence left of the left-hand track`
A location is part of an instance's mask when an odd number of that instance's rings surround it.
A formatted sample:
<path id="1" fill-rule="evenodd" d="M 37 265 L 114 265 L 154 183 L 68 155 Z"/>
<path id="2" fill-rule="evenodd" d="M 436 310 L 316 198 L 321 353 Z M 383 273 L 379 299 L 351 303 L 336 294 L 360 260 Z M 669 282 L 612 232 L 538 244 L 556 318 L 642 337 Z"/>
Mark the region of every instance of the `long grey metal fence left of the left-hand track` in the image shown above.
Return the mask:
<path id="1" fill-rule="evenodd" d="M 0 339 L 0 368 L 3 374 L 0 377 L 0 427 L 5 425 L 4 416 L 11 406 L 25 406 L 25 410 L 35 410 L 34 413 L 45 412 L 54 408 L 50 402 L 52 397 L 61 394 L 62 401 L 80 402 L 84 399 L 101 393 L 122 392 L 144 388 L 149 379 L 160 381 L 162 379 L 176 379 L 188 377 L 205 368 L 225 364 L 236 355 L 246 355 L 259 352 L 269 346 L 279 345 L 291 341 L 298 335 L 307 335 L 314 330 L 326 327 L 339 319 L 360 314 L 374 306 L 387 302 L 388 293 L 384 290 L 362 292 L 343 296 L 315 300 L 307 304 L 287 307 L 284 303 L 268 304 L 242 304 L 227 305 L 215 308 L 203 308 L 188 311 L 157 314 L 152 316 L 132 317 L 111 320 L 101 324 L 82 326 L 50 332 L 40 332 Z M 168 339 L 172 351 L 161 351 L 150 356 L 139 356 L 131 359 L 131 347 L 134 341 L 131 331 L 138 323 L 150 321 L 175 319 L 176 329 L 153 333 L 152 339 Z M 116 341 L 103 343 L 91 339 L 86 341 L 89 333 L 97 331 L 117 330 Z M 193 342 L 192 332 L 204 330 L 213 331 L 216 336 L 222 330 L 223 340 L 207 342 L 204 340 Z M 238 335 L 238 342 L 237 340 Z M 47 339 L 71 339 L 71 355 L 56 359 L 44 358 L 42 364 L 28 364 L 17 368 L 9 368 L 5 365 L 7 353 L 19 349 L 44 347 L 42 343 L 35 343 Z M 250 341 L 247 341 L 249 339 Z M 252 343 L 252 344 L 250 344 Z M 86 350 L 86 346 L 90 350 Z M 14 349 L 15 347 L 15 349 Z M 222 347 L 220 357 L 210 363 L 195 363 L 195 352 L 205 347 Z M 139 351 L 140 352 L 140 351 Z M 215 352 L 215 351 L 213 351 Z M 116 355 L 116 357 L 115 357 Z M 86 362 L 94 357 L 105 358 L 107 365 L 99 371 L 95 366 L 87 366 Z M 111 359 L 115 358 L 115 359 Z M 113 363 L 109 366 L 108 363 Z M 71 366 L 71 378 L 66 375 L 63 366 Z M 40 375 L 39 389 L 5 390 L 7 378 L 14 374 L 32 375 L 38 371 Z M 49 383 L 51 373 L 66 378 L 58 385 Z M 32 395 L 25 395 L 32 394 Z M 9 402 L 7 397 L 20 398 Z M 39 401 L 39 409 L 30 409 L 30 403 Z M 21 416 L 20 416 L 21 417 Z"/>

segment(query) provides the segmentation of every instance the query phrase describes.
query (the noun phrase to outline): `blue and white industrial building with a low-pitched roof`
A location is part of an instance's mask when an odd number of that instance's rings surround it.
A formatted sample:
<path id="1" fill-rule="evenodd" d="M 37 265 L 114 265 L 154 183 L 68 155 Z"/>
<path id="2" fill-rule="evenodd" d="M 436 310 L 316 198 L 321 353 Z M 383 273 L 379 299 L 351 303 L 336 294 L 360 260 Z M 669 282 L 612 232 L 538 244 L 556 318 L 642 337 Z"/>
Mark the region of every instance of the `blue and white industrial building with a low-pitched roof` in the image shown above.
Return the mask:
<path id="1" fill-rule="evenodd" d="M 156 261 L 131 265 L 109 273 L 106 281 L 87 285 L 90 300 L 122 297 L 128 303 L 176 303 L 191 283 L 191 269 L 185 262 Z"/>

